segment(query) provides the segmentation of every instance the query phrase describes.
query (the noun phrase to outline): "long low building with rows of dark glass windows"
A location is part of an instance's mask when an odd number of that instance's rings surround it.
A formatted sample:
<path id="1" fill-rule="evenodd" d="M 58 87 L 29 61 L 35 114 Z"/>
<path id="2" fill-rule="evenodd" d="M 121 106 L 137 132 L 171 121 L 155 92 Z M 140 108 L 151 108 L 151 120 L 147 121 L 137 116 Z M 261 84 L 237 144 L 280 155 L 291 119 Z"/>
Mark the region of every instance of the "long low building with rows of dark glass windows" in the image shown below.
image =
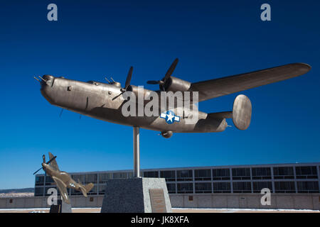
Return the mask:
<path id="1" fill-rule="evenodd" d="M 76 182 L 95 187 L 89 195 L 103 196 L 108 179 L 132 177 L 132 170 L 73 172 Z M 272 193 L 300 194 L 319 193 L 320 162 L 277 164 L 277 165 L 235 165 L 211 167 L 179 167 L 142 170 L 143 177 L 163 177 L 168 192 L 174 194 L 241 194 L 260 193 L 268 188 Z M 48 189 L 55 187 L 50 176 L 36 175 L 35 196 L 48 196 Z M 70 196 L 81 192 L 68 189 Z"/>

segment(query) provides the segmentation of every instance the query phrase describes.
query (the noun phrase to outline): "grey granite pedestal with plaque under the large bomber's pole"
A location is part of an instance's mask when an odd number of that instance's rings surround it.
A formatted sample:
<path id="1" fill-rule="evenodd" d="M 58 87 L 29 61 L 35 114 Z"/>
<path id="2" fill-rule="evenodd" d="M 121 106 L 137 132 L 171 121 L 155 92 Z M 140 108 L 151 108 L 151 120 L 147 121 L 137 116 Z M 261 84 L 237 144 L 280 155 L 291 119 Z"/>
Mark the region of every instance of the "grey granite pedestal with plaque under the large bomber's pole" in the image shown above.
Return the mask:
<path id="1" fill-rule="evenodd" d="M 164 178 L 137 177 L 106 182 L 101 213 L 171 213 Z"/>

